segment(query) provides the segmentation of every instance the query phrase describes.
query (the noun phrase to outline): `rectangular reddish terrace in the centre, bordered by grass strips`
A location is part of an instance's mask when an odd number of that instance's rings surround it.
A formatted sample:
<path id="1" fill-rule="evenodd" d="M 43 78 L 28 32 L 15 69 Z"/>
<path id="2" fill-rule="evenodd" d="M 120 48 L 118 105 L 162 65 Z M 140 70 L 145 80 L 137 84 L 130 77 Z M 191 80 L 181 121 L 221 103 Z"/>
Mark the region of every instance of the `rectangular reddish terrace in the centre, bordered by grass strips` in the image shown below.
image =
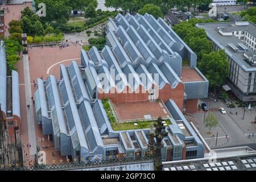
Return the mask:
<path id="1" fill-rule="evenodd" d="M 114 104 L 114 109 L 117 112 L 120 121 L 129 119 L 144 119 L 145 115 L 150 115 L 151 118 L 158 118 L 159 116 L 166 118 L 167 115 L 170 117 L 170 114 L 165 109 L 165 107 L 161 107 L 157 101 L 126 102 L 121 104 Z"/>

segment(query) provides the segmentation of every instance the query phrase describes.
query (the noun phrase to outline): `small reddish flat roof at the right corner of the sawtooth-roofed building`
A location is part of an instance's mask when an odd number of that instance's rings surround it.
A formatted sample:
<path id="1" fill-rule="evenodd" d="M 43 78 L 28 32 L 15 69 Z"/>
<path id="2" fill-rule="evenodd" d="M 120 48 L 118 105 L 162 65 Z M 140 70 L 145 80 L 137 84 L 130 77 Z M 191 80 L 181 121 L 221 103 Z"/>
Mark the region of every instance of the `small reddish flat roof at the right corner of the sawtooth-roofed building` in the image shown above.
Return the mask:
<path id="1" fill-rule="evenodd" d="M 205 81 L 195 69 L 190 67 L 181 68 L 181 80 L 183 82 Z"/>

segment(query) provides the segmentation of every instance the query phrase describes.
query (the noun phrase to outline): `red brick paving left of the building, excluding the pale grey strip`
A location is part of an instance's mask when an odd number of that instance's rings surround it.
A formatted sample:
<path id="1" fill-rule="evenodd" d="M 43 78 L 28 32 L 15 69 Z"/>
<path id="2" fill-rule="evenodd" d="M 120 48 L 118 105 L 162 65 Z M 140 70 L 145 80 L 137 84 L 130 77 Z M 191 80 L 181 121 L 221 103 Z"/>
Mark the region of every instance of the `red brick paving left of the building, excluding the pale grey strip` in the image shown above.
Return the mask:
<path id="1" fill-rule="evenodd" d="M 71 46 L 68 48 L 59 49 L 57 48 L 32 48 L 28 52 L 28 56 L 30 56 L 30 79 L 31 83 L 33 80 L 36 81 L 38 77 L 43 76 L 46 79 L 49 75 L 47 75 L 47 69 L 51 67 L 51 65 L 58 63 L 59 61 L 75 59 L 80 57 L 81 46 Z M 71 61 L 65 61 L 63 64 L 68 65 Z M 78 61 L 80 64 L 80 61 Z M 28 126 L 27 126 L 27 112 L 26 112 L 26 96 L 25 96 L 25 89 L 24 89 L 24 71 L 23 71 L 23 60 L 20 60 L 19 63 L 16 65 L 19 72 L 19 81 L 20 81 L 20 105 L 21 105 L 21 134 L 24 143 L 24 150 L 25 154 L 28 156 L 28 161 L 34 160 L 34 156 L 30 155 L 29 148 L 27 147 L 28 144 Z M 57 79 L 60 77 L 60 64 L 55 65 L 49 72 L 52 75 L 55 75 Z M 34 85 L 31 86 L 32 96 L 34 97 L 34 92 L 36 91 L 37 87 Z M 35 110 L 35 108 L 34 108 Z M 34 117 L 36 119 L 35 113 Z M 49 144 L 49 148 L 41 150 L 46 152 L 46 160 L 48 163 L 52 163 L 52 160 L 56 160 L 56 163 L 59 162 L 60 159 L 65 161 L 65 157 L 60 156 L 60 152 L 55 152 L 53 147 L 52 140 L 48 141 L 48 136 L 42 134 L 42 126 L 37 125 L 35 121 L 35 132 L 36 137 L 44 138 L 44 142 L 39 142 L 39 146 L 47 146 Z M 52 152 L 55 156 L 52 155 Z"/>

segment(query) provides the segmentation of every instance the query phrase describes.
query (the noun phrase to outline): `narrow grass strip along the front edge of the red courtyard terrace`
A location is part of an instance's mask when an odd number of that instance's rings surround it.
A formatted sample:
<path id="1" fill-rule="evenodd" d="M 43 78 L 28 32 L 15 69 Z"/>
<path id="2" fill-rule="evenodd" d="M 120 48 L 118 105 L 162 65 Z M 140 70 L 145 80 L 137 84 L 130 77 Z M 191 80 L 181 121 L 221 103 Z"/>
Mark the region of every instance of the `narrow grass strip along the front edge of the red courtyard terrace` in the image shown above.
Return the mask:
<path id="1" fill-rule="evenodd" d="M 170 119 L 165 120 L 167 125 L 172 125 Z M 157 121 L 139 121 L 139 122 L 127 122 L 127 123 L 112 123 L 112 128 L 114 131 L 119 131 L 119 130 L 136 130 L 136 129 L 149 129 L 150 128 L 150 123 L 154 122 L 156 123 Z M 134 123 L 137 123 L 138 126 L 134 126 Z"/>

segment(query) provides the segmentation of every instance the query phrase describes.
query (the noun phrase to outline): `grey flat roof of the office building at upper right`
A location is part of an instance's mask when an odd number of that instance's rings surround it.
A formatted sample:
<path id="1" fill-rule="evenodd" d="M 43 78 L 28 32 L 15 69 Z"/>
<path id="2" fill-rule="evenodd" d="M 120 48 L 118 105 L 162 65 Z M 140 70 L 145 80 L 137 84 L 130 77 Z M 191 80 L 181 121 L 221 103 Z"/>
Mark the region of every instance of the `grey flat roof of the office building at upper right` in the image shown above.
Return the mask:
<path id="1" fill-rule="evenodd" d="M 251 66 L 247 63 L 246 57 L 243 56 L 242 51 L 240 52 L 234 52 L 230 47 L 229 43 L 234 44 L 234 46 L 238 47 L 238 43 L 244 44 L 244 40 L 238 39 L 236 36 L 223 36 L 216 30 L 216 28 L 221 27 L 222 31 L 225 30 L 225 32 L 233 32 L 233 31 L 247 31 L 251 35 L 253 35 L 256 38 L 256 26 L 255 24 L 249 22 L 249 25 L 242 25 L 237 26 L 236 23 L 199 23 L 197 24 L 198 27 L 204 28 L 204 30 L 207 32 L 210 39 L 212 39 L 214 42 L 218 42 L 218 46 L 222 46 L 225 48 L 225 51 L 228 52 L 230 57 L 235 58 L 234 60 L 241 65 L 243 68 L 251 68 L 255 69 L 256 67 Z M 246 45 L 245 45 L 246 46 Z M 246 46 L 247 47 L 247 46 Z M 249 48 L 249 47 L 247 47 Z M 249 48 L 249 52 L 254 52 L 253 49 Z"/>

